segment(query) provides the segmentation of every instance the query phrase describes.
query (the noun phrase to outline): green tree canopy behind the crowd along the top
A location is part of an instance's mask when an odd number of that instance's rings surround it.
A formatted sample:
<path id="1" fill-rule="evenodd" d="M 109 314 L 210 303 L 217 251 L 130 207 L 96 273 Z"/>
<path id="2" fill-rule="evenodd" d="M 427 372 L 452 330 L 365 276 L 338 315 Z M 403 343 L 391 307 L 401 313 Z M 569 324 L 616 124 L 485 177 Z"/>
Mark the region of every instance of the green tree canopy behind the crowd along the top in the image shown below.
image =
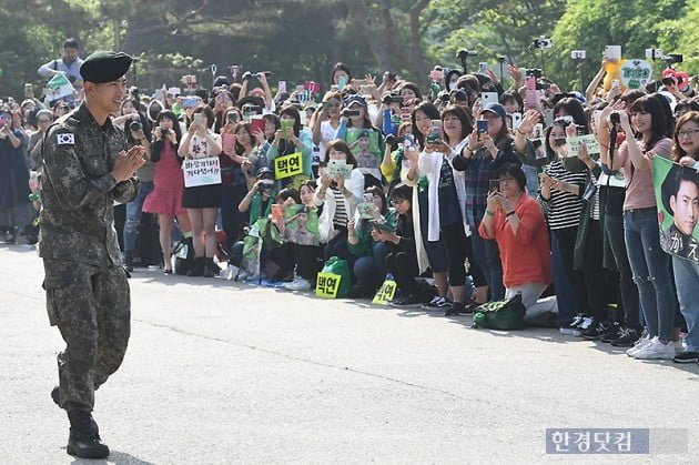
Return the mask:
<path id="1" fill-rule="evenodd" d="M 586 50 L 584 80 L 599 68 L 606 44 L 625 58 L 645 49 L 682 53 L 678 69 L 699 72 L 699 2 L 688 0 L 4 0 L 0 21 L 0 92 L 43 84 L 40 64 L 77 38 L 83 55 L 120 49 L 139 58 L 141 88 L 175 84 L 194 73 L 211 82 L 231 64 L 273 71 L 291 82 L 326 85 L 343 61 L 355 74 L 396 71 L 423 83 L 434 64 L 459 68 L 455 54 L 497 68 L 497 58 L 540 68 L 564 87 L 579 88 L 571 50 Z M 547 36 L 554 47 L 531 47 Z M 658 70 L 662 63 L 656 63 Z M 275 78 L 273 77 L 273 80 Z"/>

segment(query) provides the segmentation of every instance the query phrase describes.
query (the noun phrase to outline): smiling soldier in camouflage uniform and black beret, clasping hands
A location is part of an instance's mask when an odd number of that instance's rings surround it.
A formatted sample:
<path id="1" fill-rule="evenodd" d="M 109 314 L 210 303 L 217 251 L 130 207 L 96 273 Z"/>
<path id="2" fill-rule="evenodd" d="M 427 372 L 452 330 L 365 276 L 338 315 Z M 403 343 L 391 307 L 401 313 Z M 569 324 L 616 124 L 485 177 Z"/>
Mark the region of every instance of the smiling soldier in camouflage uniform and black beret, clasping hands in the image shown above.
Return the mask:
<path id="1" fill-rule="evenodd" d="M 51 325 L 67 343 L 52 397 L 68 412 L 68 453 L 102 458 L 91 412 L 94 390 L 119 368 L 130 334 L 130 294 L 114 231 L 113 201 L 132 201 L 143 148 L 125 152 L 110 114 L 125 95 L 131 57 L 95 52 L 80 68 L 85 101 L 59 119 L 43 142 L 41 243 Z"/>

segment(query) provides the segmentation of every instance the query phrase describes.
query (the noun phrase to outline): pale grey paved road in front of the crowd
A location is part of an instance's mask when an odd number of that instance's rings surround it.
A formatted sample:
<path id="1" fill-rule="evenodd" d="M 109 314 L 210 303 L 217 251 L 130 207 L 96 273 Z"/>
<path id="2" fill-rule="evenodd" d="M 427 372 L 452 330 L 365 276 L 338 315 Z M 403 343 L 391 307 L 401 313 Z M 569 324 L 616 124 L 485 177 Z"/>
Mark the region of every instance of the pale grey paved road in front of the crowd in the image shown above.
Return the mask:
<path id="1" fill-rule="evenodd" d="M 1 464 L 73 463 L 42 277 L 33 250 L 0 245 Z M 131 290 L 129 351 L 97 395 L 102 463 L 699 463 L 697 365 L 222 280 L 138 271 Z M 655 454 L 547 455 L 551 427 L 654 428 Z"/>

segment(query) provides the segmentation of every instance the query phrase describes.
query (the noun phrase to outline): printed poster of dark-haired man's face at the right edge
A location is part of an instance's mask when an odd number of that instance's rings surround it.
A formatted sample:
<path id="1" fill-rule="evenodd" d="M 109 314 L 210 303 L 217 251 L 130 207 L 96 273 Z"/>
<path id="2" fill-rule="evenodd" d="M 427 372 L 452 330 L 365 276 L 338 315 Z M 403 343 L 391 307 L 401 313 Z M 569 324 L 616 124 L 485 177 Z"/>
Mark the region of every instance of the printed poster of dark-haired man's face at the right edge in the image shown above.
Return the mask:
<path id="1" fill-rule="evenodd" d="M 652 182 L 662 250 L 699 263 L 699 172 L 654 156 Z"/>

